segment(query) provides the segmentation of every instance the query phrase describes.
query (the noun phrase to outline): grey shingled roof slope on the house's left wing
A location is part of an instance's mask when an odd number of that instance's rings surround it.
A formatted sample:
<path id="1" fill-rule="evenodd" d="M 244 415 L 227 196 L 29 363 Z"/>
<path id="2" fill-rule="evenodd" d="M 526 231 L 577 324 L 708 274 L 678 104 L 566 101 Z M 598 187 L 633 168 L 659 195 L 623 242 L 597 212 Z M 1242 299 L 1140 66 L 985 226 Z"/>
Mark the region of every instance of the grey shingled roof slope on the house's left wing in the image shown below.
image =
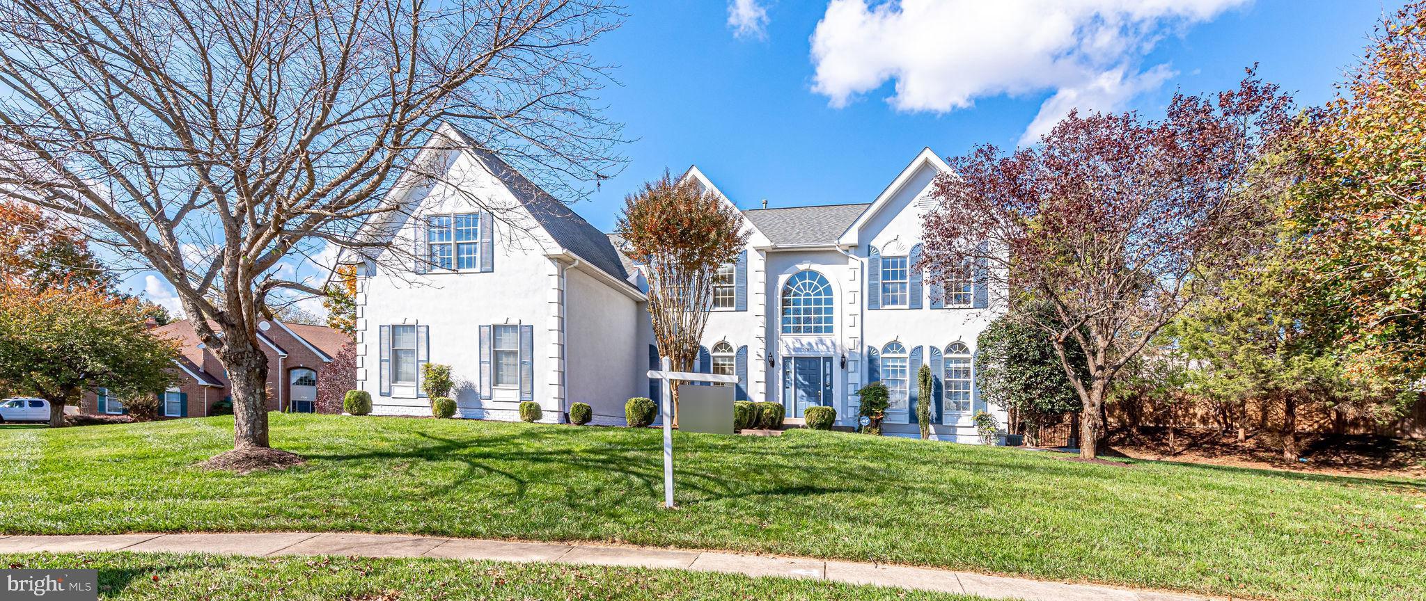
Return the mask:
<path id="1" fill-rule="evenodd" d="M 603 271 L 633 286 L 629 273 L 625 271 L 619 252 L 609 244 L 609 236 L 585 218 L 570 211 L 569 205 L 549 195 L 543 188 L 535 185 L 523 174 L 505 162 L 499 155 L 481 148 L 469 135 L 453 125 L 446 125 L 443 131 L 453 132 L 465 147 L 462 150 L 485 167 L 496 179 L 509 188 L 511 194 L 525 207 L 536 222 L 555 239 L 560 248 L 575 254 L 589 265 Z"/>

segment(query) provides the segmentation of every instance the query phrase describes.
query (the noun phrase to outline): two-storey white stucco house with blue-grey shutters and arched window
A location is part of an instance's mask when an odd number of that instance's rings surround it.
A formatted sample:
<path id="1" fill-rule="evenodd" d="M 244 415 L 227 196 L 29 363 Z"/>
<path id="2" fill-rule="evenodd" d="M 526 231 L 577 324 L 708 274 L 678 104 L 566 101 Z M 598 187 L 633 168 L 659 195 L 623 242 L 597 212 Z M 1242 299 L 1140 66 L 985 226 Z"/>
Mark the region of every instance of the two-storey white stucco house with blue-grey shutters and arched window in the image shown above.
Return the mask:
<path id="1" fill-rule="evenodd" d="M 442 177 L 398 185 L 402 211 L 366 224 L 392 238 L 389 255 L 347 259 L 359 266 L 356 380 L 374 413 L 429 414 L 419 367 L 434 362 L 459 382 L 461 417 L 515 420 L 533 400 L 563 422 L 585 402 L 593 423 L 623 424 L 625 400 L 657 394 L 637 265 L 499 157 L 442 134 L 424 151 Z M 927 365 L 937 439 L 977 441 L 977 410 L 1005 423 L 971 365 L 995 313 L 985 278 L 941 291 L 911 269 L 933 179 L 948 169 L 927 148 L 867 202 L 743 209 L 747 246 L 720 271 L 700 370 L 739 376 L 739 399 L 783 403 L 789 417 L 833 406 L 848 426 L 856 390 L 881 380 L 893 389 L 884 432 L 915 436 Z M 684 177 L 717 191 L 697 167 Z"/>

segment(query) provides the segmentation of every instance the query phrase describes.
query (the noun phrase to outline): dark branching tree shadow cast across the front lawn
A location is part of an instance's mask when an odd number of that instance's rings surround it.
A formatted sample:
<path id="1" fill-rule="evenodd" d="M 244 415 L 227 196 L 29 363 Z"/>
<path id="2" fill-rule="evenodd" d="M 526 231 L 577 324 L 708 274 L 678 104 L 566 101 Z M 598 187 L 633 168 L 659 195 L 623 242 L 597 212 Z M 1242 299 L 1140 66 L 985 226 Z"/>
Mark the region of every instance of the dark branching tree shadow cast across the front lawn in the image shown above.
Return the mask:
<path id="1" fill-rule="evenodd" d="M 361 453 L 304 453 L 304 457 L 311 461 L 324 463 L 371 460 L 459 461 L 463 466 L 459 474 L 455 474 L 441 486 L 428 488 L 426 494 L 431 496 L 455 493 L 478 476 L 496 476 L 513 483 L 515 491 L 512 496 L 523 498 L 526 497 L 528 487 L 530 486 L 528 476 L 496 466 L 501 463 L 528 463 L 543 467 L 543 471 L 549 474 L 566 471 L 566 477 L 572 479 L 578 479 L 583 471 L 612 474 L 610 477 L 633 483 L 635 488 L 642 490 L 650 501 L 657 501 L 663 497 L 663 461 L 660 446 L 650 444 L 647 449 L 643 449 L 640 446 L 613 441 L 605 441 L 597 446 L 580 441 L 580 444 L 578 444 L 580 449 L 572 450 L 570 447 L 575 447 L 576 444 L 559 444 L 559 440 L 569 440 L 569 437 L 563 436 L 565 433 L 555 430 L 526 430 L 511 434 L 482 436 L 476 440 L 458 440 L 425 432 L 416 432 L 414 434 L 428 441 L 428 444 L 408 449 L 366 450 Z M 545 446 L 552 449 L 535 450 L 532 446 Z M 690 443 L 684 441 L 684 453 L 710 451 L 706 444 L 694 443 L 692 444 L 694 446 L 693 450 L 689 450 L 689 446 Z M 677 449 L 677 446 L 674 449 Z M 807 463 L 807 466 L 800 467 L 797 466 L 797 461 L 769 461 L 769 457 L 763 454 L 757 457 L 757 464 L 750 466 L 750 469 L 723 473 L 700 469 L 696 464 L 690 466 L 690 463 L 692 461 L 687 460 L 682 461 L 682 464 L 679 461 L 674 463 L 676 484 L 680 491 L 680 506 L 684 507 L 734 498 L 759 498 L 773 496 L 799 497 L 867 491 L 867 488 L 861 486 L 836 487 L 809 484 L 809 481 L 814 483 L 826 480 L 846 481 L 853 476 L 857 476 L 851 473 L 838 473 L 836 477 L 827 479 L 829 471 L 840 470 L 830 469 L 829 466 L 821 464 L 821 461 L 817 461 L 816 464 L 811 461 L 801 461 Z M 769 463 L 776 463 L 776 466 L 770 466 Z M 309 470 L 321 469 L 319 464 L 309 463 Z M 776 470 L 781 477 L 776 481 L 770 481 L 769 484 L 773 484 L 771 487 L 759 487 L 767 476 L 750 476 L 769 469 Z M 582 480 L 582 483 L 589 484 L 590 481 Z M 550 481 L 542 481 L 539 484 L 550 484 Z M 565 498 L 570 506 L 586 504 L 597 507 L 596 500 L 599 494 L 607 488 L 609 486 L 578 488 L 573 484 L 565 484 Z M 693 498 L 690 498 L 690 496 Z"/>

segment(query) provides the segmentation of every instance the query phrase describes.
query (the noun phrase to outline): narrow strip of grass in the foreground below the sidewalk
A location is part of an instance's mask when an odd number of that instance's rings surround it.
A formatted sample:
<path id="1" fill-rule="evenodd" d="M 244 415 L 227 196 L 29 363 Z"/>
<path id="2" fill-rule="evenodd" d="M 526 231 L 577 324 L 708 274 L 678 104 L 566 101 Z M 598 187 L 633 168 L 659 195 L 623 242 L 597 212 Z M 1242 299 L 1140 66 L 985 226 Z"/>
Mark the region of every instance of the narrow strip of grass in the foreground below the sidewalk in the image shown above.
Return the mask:
<path id="1" fill-rule="evenodd" d="M 113 600 L 980 600 L 809 580 L 595 565 L 137 553 L 0 557 L 9 565 L 31 570 L 98 570 L 100 595 Z"/>

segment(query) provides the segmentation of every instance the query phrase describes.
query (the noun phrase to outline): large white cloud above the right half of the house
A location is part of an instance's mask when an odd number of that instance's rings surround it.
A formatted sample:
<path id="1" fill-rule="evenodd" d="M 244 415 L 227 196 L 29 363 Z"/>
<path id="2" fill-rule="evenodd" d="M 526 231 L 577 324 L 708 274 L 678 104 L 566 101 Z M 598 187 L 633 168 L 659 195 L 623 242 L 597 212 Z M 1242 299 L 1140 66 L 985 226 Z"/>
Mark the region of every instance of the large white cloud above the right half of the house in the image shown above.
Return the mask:
<path id="1" fill-rule="evenodd" d="M 1174 75 L 1154 43 L 1251 0 L 831 0 L 811 37 L 813 90 L 843 107 L 896 81 L 890 104 L 947 113 L 1052 90 L 1022 141 L 1070 108 L 1111 111 Z"/>

